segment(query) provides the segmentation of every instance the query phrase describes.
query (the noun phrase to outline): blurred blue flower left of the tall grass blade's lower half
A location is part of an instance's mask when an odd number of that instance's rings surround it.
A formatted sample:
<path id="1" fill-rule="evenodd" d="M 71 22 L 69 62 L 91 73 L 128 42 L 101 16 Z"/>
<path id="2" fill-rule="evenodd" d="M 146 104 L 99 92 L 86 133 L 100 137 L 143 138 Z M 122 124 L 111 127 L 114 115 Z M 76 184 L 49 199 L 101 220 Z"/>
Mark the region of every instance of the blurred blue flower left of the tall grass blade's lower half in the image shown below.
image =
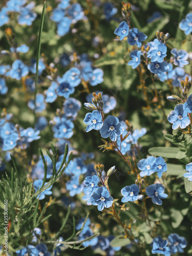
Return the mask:
<path id="1" fill-rule="evenodd" d="M 6 76 L 20 80 L 28 73 L 28 67 L 24 64 L 24 62 L 20 59 L 16 59 L 12 64 L 12 69 L 6 73 Z"/>

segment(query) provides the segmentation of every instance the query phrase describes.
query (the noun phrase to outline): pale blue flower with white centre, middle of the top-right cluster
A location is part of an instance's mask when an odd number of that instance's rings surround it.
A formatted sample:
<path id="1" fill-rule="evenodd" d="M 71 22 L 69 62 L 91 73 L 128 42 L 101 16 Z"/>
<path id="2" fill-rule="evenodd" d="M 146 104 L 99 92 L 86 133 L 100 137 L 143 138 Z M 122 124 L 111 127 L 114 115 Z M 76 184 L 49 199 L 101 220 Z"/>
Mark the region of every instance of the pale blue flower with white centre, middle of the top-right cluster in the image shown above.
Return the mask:
<path id="1" fill-rule="evenodd" d="M 163 62 L 164 57 L 166 56 L 167 47 L 165 44 L 160 43 L 155 45 L 155 47 L 152 47 L 148 53 L 147 57 L 150 57 L 152 59 L 152 62 Z"/>

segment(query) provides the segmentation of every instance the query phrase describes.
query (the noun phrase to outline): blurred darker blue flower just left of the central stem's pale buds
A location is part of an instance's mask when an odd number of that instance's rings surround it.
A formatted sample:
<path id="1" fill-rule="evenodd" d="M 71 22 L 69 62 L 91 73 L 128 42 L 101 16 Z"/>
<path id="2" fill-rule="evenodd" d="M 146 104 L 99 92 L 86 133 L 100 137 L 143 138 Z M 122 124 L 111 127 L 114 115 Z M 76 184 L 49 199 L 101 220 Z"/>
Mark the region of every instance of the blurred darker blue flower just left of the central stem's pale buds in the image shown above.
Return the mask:
<path id="1" fill-rule="evenodd" d="M 68 98 L 63 103 L 63 111 L 66 116 L 76 117 L 77 112 L 81 109 L 81 102 L 75 98 Z"/>

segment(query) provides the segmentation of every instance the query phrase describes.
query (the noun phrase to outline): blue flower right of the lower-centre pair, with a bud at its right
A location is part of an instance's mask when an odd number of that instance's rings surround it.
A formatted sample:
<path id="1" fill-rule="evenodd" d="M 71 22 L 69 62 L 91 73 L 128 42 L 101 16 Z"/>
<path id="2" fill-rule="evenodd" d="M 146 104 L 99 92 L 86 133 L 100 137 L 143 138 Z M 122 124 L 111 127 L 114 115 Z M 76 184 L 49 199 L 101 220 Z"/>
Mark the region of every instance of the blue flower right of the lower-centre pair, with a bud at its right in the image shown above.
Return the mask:
<path id="1" fill-rule="evenodd" d="M 123 195 L 122 203 L 137 201 L 139 198 L 139 187 L 136 184 L 125 186 L 121 189 L 121 194 Z"/>

